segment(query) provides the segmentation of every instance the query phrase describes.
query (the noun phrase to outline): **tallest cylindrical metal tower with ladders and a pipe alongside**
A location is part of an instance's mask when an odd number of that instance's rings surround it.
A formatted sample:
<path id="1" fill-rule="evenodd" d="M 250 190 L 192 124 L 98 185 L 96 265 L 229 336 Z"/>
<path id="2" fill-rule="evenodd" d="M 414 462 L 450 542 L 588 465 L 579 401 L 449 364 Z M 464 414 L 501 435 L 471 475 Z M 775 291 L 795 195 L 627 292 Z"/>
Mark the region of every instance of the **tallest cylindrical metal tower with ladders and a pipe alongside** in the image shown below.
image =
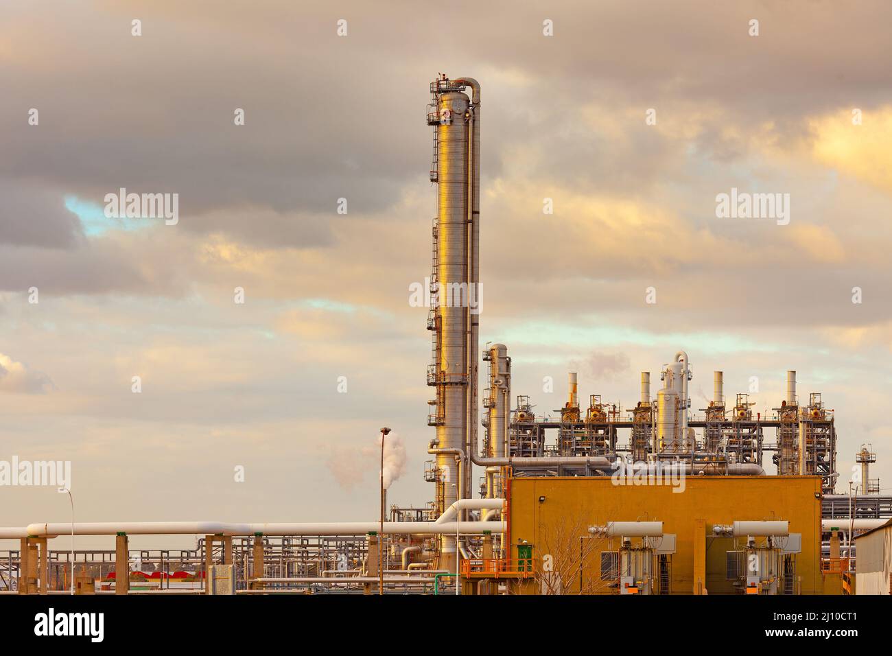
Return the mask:
<path id="1" fill-rule="evenodd" d="M 472 90 L 469 98 L 465 92 Z M 436 387 L 437 511 L 470 496 L 477 448 L 480 310 L 480 85 L 473 78 L 431 83 L 427 124 L 434 126 L 431 181 L 437 183 L 432 299 Z M 429 322 L 430 326 L 430 322 Z M 429 422 L 432 423 L 432 422 Z M 460 461 L 457 461 L 460 459 Z M 460 466 L 464 465 L 464 466 Z M 459 478 L 460 476 L 460 478 Z M 455 565 L 454 536 L 441 538 L 440 568 Z"/>

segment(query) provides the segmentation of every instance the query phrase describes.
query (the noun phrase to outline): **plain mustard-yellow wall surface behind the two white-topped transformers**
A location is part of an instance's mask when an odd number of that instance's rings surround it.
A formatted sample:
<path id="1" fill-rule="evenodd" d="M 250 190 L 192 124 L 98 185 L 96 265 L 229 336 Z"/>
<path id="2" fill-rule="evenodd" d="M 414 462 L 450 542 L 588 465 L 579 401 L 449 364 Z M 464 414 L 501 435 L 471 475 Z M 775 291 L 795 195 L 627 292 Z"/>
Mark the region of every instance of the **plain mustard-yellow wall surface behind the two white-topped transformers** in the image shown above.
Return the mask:
<path id="1" fill-rule="evenodd" d="M 745 538 L 713 537 L 714 524 L 735 520 L 786 519 L 790 533 L 802 534 L 796 556 L 797 587 L 802 594 L 822 594 L 821 479 L 819 477 L 688 477 L 684 489 L 673 486 L 615 485 L 610 477 L 512 478 L 509 490 L 511 558 L 518 540 L 533 544 L 541 562 L 545 553 L 582 569 L 566 587 L 578 592 L 612 594 L 600 579 L 600 552 L 619 549 L 619 539 L 584 543 L 588 527 L 611 521 L 662 521 L 665 533 L 676 535 L 671 561 L 671 593 L 692 594 L 695 541 L 705 543 L 706 589 L 732 594 L 726 580 L 726 552 L 741 548 Z M 544 501 L 540 501 L 544 497 Z M 704 522 L 697 530 L 698 520 Z M 570 545 L 573 545 L 572 547 Z M 860 548 L 860 547 L 859 547 Z M 702 549 L 702 547 L 701 547 Z M 582 557 L 580 555 L 582 554 Z"/>

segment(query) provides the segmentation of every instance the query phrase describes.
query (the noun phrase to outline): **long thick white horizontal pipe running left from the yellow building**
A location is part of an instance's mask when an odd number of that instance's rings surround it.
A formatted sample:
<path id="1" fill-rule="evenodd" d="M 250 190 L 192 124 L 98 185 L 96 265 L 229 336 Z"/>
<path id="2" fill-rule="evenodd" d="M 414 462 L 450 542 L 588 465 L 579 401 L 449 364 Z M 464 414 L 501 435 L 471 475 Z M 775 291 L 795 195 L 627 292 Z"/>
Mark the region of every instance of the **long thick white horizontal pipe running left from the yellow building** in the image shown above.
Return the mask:
<path id="1" fill-rule="evenodd" d="M 493 501 L 493 500 L 478 500 Z M 454 534 L 455 521 L 385 521 L 386 534 Z M 381 530 L 380 522 L 347 521 L 321 522 L 314 524 L 228 524 L 211 521 L 144 521 L 144 522 L 79 522 L 74 525 L 76 536 L 114 536 L 126 533 L 128 536 L 174 536 L 174 535 L 223 535 L 253 536 L 261 533 L 264 536 L 362 536 Z M 458 533 L 482 534 L 503 533 L 505 522 L 502 521 L 461 521 L 458 522 Z M 70 536 L 71 523 L 29 524 L 25 528 L 0 528 L 0 536 Z"/>

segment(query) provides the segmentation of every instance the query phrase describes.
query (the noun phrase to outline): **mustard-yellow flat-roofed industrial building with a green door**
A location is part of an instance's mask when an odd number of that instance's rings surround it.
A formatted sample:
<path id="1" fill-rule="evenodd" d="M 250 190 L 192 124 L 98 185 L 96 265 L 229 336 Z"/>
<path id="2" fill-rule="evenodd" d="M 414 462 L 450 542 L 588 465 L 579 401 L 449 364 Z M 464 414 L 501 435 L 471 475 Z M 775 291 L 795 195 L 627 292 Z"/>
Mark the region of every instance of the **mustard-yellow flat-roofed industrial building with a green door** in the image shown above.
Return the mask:
<path id="1" fill-rule="evenodd" d="M 516 591 L 616 594 L 624 538 L 592 532 L 590 527 L 661 521 L 667 537 L 658 542 L 671 545 L 673 553 L 653 555 L 648 575 L 654 594 L 746 592 L 745 563 L 754 558 L 747 546 L 773 547 L 779 553 L 777 592 L 824 593 L 820 477 L 686 477 L 676 486 L 640 485 L 646 479 L 625 482 L 617 485 L 611 477 L 511 478 L 510 557 L 523 557 L 532 546 L 533 568 L 541 572 Z M 789 523 L 790 538 L 747 539 L 723 530 L 735 521 L 780 520 Z M 798 552 L 780 555 L 781 549 L 797 543 L 795 534 L 801 536 Z M 648 546 L 647 539 L 626 538 L 625 548 L 640 550 Z"/>

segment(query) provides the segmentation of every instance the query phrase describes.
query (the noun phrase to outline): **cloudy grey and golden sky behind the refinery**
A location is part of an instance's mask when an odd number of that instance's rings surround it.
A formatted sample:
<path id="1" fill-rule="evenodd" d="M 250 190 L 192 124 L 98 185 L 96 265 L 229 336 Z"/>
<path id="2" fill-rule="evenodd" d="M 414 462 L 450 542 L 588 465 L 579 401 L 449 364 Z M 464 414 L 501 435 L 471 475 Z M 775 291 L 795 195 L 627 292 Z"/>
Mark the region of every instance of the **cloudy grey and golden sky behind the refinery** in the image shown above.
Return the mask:
<path id="1" fill-rule="evenodd" d="M 764 413 L 794 369 L 836 411 L 838 490 L 868 442 L 888 492 L 890 23 L 820 0 L 3 0 L 0 460 L 71 461 L 83 520 L 368 519 L 386 425 L 390 501 L 428 501 L 409 286 L 442 71 L 483 86 L 481 338 L 515 394 L 547 413 L 578 370 L 583 399 L 631 406 L 684 348 L 695 410 L 723 370 Z M 120 187 L 178 194 L 177 225 L 106 218 Z M 789 225 L 717 218 L 732 187 L 789 194 Z M 0 509 L 69 516 L 48 487 Z"/>

